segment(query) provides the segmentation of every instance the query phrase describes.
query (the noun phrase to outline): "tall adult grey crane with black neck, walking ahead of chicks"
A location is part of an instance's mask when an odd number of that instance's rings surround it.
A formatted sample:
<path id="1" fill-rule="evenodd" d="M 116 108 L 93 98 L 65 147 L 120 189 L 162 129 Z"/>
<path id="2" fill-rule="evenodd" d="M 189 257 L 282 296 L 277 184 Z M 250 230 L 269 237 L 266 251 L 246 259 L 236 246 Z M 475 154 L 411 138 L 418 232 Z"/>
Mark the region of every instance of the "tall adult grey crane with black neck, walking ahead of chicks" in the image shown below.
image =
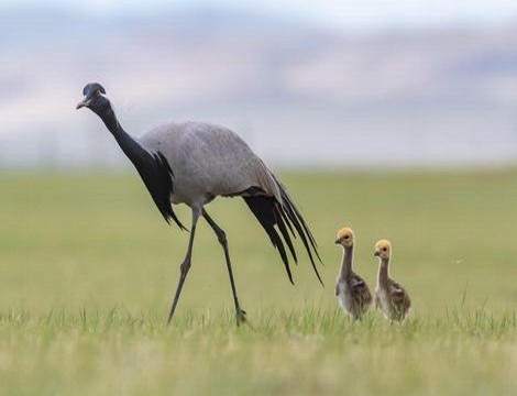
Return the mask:
<path id="1" fill-rule="evenodd" d="M 164 219 L 186 230 L 174 213 L 172 204 L 186 204 L 191 209 L 190 238 L 167 322 L 174 316 L 190 268 L 196 224 L 200 216 L 207 220 L 224 251 L 237 323 L 245 321 L 245 311 L 237 296 L 226 233 L 205 209 L 216 197 L 242 197 L 245 200 L 273 246 L 278 250 L 290 283 L 293 276 L 284 243 L 296 263 L 292 235 L 298 235 L 322 283 L 314 257 L 316 255 L 320 260 L 316 241 L 307 223 L 284 185 L 238 134 L 223 127 L 185 122 L 157 127 L 136 139 L 120 125 L 100 84 L 88 84 L 82 95 L 77 109 L 89 108 L 105 122 L 133 163 Z"/>

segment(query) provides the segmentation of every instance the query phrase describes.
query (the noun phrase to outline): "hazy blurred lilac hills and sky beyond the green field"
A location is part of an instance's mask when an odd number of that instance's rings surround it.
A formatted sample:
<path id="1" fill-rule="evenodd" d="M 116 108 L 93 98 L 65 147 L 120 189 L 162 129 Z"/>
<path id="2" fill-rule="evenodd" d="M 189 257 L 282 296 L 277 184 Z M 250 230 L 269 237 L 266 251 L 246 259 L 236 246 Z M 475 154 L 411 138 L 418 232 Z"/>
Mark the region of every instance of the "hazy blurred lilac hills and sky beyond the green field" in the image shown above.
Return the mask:
<path id="1" fill-rule="evenodd" d="M 129 167 L 139 135 L 238 131 L 282 167 L 486 167 L 517 158 L 512 0 L 0 1 L 0 167 Z"/>

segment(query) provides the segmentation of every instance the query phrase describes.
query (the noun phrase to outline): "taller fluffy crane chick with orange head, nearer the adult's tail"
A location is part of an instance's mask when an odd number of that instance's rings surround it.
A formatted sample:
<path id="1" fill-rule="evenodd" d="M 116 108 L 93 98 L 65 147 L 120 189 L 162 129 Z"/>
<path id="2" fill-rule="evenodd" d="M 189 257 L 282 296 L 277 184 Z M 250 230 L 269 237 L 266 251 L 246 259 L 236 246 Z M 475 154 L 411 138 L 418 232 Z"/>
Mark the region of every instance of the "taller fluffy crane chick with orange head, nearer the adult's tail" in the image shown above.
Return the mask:
<path id="1" fill-rule="evenodd" d="M 343 258 L 336 283 L 336 296 L 341 308 L 352 319 L 361 319 L 372 304 L 366 283 L 353 271 L 354 233 L 350 228 L 339 230 L 336 243 L 343 248 Z"/>

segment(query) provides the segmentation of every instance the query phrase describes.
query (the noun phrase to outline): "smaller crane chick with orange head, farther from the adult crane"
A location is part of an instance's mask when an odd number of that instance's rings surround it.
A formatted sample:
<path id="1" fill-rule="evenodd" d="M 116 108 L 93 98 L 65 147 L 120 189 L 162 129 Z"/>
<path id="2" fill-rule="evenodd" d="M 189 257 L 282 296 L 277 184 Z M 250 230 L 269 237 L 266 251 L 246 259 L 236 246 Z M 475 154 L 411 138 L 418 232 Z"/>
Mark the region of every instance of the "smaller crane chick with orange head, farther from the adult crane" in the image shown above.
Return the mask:
<path id="1" fill-rule="evenodd" d="M 374 256 L 380 260 L 375 307 L 381 309 L 386 319 L 403 321 L 409 311 L 411 300 L 404 287 L 389 277 L 389 260 L 392 257 L 389 241 L 378 241 L 375 244 Z"/>

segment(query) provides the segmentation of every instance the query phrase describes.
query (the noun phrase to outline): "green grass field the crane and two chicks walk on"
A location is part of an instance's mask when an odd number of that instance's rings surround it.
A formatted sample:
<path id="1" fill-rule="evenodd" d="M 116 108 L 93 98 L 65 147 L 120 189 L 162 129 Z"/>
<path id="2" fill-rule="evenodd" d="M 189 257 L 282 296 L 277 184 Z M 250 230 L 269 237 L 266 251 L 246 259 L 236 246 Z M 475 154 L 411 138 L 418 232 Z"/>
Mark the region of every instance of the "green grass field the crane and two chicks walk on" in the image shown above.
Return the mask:
<path id="1" fill-rule="evenodd" d="M 516 170 L 282 178 L 326 287 L 300 249 L 292 286 L 244 202 L 219 199 L 209 211 L 251 321 L 237 329 L 202 221 L 165 327 L 188 234 L 165 224 L 135 175 L 0 174 L 0 395 L 515 395 Z M 392 241 L 392 275 L 414 304 L 402 326 L 338 310 L 344 224 L 372 288 L 373 245 Z"/>

